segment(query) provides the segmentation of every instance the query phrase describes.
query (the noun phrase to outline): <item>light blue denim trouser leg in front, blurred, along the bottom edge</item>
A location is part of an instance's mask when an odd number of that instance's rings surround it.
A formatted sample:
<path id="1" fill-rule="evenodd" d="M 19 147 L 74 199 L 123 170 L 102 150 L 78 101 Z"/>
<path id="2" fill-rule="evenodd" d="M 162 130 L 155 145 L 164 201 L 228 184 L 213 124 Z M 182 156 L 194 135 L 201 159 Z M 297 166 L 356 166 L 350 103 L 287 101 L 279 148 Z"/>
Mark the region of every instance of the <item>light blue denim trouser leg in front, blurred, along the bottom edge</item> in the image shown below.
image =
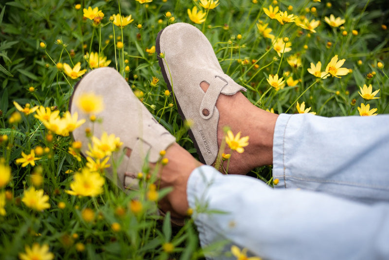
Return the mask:
<path id="1" fill-rule="evenodd" d="M 196 168 L 187 186 L 201 245 L 227 239 L 273 260 L 389 259 L 389 204 L 363 204 Z M 206 210 L 225 214 L 207 213 Z M 233 259 L 208 254 L 207 259 Z M 236 259 L 236 258 L 235 258 Z"/>

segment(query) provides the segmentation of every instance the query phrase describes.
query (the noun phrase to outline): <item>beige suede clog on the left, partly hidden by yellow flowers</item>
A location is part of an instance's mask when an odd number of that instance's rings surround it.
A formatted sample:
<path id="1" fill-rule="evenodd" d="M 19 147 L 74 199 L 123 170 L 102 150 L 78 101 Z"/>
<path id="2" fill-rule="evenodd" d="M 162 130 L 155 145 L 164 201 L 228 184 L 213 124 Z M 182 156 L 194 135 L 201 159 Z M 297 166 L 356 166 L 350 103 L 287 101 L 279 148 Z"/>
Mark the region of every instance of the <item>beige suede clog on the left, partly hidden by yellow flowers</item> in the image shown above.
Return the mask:
<path id="1" fill-rule="evenodd" d="M 92 123 L 89 115 L 77 107 L 77 100 L 83 93 L 94 93 L 103 96 L 104 110 L 96 116 L 102 123 Z M 176 138 L 155 120 L 153 115 L 134 95 L 123 76 L 113 68 L 95 69 L 84 76 L 75 88 L 70 104 L 71 114 L 78 112 L 79 119 L 86 122 L 73 131 L 74 140 L 81 141 L 82 153 L 88 150 L 89 138 L 85 134 L 87 128 L 93 130 L 93 135 L 100 138 L 104 131 L 115 134 L 123 142 L 122 149 L 113 153 L 115 162 L 121 160 L 117 168 L 117 185 L 137 189 L 138 172 L 142 171 L 146 157 L 148 162 L 156 163 L 159 152 L 166 150 L 176 141 Z M 130 157 L 124 154 L 124 149 L 132 150 Z M 112 158 L 110 164 L 112 166 Z M 108 178 L 113 180 L 112 167 L 108 168 Z"/>

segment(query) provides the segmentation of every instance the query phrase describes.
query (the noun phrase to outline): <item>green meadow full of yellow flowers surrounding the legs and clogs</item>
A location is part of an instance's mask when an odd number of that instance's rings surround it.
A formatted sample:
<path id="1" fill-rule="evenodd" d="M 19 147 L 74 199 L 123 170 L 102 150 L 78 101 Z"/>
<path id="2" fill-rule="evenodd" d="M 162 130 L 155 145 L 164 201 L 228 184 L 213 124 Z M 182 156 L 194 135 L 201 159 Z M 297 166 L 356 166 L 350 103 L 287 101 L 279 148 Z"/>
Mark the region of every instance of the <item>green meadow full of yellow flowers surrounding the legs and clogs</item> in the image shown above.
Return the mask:
<path id="1" fill-rule="evenodd" d="M 118 143 L 95 137 L 114 148 L 87 160 L 80 147 L 88 144 L 71 139 L 81 123 L 67 112 L 74 85 L 110 66 L 197 156 L 155 52 L 169 24 L 202 30 L 224 72 L 262 109 L 329 117 L 389 112 L 385 0 L 209 2 L 0 3 L 0 259 L 201 259 L 221 250 L 200 248 L 190 218 L 177 228 L 157 214 L 168 191 L 156 191 L 149 172 L 139 176 L 140 191 L 128 194 L 105 180 Z M 86 101 L 94 111 L 96 100 Z M 274 184 L 271 166 L 250 175 Z"/>

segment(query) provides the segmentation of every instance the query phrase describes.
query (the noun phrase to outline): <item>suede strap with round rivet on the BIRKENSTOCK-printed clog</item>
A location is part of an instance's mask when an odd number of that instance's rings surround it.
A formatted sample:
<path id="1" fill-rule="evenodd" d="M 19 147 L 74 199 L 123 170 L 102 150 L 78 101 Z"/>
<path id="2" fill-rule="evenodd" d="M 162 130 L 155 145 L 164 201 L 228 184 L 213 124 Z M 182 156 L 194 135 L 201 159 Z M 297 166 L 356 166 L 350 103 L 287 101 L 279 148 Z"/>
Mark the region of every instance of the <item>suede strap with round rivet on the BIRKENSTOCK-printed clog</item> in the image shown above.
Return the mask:
<path id="1" fill-rule="evenodd" d="M 201 118 L 206 120 L 212 117 L 216 101 L 220 93 L 225 95 L 233 95 L 241 90 L 246 91 L 244 87 L 235 83 L 226 74 L 215 75 L 214 77 L 207 79 L 207 83 L 210 86 L 204 94 L 199 110 Z"/>

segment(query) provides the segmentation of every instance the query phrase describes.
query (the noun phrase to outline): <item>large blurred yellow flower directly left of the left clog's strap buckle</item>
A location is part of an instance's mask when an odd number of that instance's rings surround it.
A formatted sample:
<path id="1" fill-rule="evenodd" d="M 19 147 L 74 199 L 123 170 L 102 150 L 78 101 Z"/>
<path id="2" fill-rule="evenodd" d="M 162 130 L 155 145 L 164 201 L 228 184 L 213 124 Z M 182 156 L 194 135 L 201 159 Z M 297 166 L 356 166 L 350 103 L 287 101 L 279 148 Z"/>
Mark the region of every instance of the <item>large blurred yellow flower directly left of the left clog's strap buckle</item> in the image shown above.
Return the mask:
<path id="1" fill-rule="evenodd" d="M 95 197 L 103 193 L 104 178 L 100 173 L 83 168 L 81 172 L 74 174 L 70 185 L 71 190 L 65 192 L 70 195 Z"/>

